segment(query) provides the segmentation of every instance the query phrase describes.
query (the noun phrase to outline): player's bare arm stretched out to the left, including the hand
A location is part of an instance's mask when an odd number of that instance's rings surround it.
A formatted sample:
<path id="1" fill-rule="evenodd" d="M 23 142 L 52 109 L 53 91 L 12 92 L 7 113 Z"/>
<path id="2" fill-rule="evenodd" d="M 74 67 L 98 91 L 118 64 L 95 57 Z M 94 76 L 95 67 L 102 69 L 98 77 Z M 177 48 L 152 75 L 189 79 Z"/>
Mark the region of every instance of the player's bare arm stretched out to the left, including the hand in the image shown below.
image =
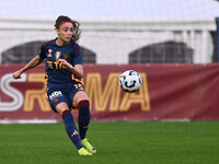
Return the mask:
<path id="1" fill-rule="evenodd" d="M 15 71 L 13 73 L 13 78 L 14 79 L 21 79 L 21 74 L 23 72 L 25 72 L 28 69 L 32 69 L 36 66 L 38 66 L 39 63 L 42 63 L 42 61 L 44 61 L 44 58 L 41 58 L 39 56 L 34 57 L 28 63 L 26 63 L 22 69 Z"/>

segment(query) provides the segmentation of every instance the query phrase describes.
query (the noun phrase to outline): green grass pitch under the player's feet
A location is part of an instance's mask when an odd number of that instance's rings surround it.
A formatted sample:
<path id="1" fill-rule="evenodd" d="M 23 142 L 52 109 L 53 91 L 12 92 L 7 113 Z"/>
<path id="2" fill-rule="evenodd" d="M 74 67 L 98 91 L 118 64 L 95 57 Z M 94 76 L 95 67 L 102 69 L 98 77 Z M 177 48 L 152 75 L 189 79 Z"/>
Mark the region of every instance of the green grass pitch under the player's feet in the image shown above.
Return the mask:
<path id="1" fill-rule="evenodd" d="M 64 124 L 0 125 L 0 164 L 217 164 L 219 121 L 91 122 L 79 156 Z"/>

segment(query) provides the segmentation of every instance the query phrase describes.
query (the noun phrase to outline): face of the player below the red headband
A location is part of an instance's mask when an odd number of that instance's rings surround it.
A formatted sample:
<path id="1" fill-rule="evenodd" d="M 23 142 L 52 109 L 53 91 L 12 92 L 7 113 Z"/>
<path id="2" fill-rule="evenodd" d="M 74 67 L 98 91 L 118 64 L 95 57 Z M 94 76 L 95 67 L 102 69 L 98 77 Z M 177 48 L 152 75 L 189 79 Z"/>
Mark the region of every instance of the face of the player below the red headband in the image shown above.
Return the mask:
<path id="1" fill-rule="evenodd" d="M 73 34 L 73 26 L 71 23 L 64 23 L 58 30 L 56 30 L 58 38 L 65 43 L 70 42 Z"/>

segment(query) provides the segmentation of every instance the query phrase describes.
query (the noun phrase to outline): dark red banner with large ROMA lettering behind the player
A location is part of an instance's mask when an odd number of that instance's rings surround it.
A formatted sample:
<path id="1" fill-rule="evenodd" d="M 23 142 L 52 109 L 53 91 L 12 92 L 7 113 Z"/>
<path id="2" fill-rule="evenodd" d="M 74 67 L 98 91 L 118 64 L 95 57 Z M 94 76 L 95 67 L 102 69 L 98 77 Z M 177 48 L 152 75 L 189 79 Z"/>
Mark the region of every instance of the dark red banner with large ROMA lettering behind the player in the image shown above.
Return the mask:
<path id="1" fill-rule="evenodd" d="M 44 66 L 14 80 L 23 65 L 0 66 L 0 120 L 61 120 L 46 99 Z M 141 74 L 142 86 L 125 93 L 126 70 Z M 85 65 L 92 120 L 218 120 L 219 65 Z M 77 119 L 77 112 L 72 112 Z"/>

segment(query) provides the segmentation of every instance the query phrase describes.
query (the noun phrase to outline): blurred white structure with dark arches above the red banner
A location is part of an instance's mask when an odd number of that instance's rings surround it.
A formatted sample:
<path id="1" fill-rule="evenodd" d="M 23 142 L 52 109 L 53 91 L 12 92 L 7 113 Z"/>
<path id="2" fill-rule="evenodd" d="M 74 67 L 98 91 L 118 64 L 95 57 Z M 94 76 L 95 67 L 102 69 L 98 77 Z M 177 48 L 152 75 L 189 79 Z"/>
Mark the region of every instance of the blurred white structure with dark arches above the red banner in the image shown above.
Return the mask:
<path id="1" fill-rule="evenodd" d="M 0 4 L 0 63 L 30 61 L 56 37 L 58 15 L 81 23 L 87 63 L 218 61 L 216 0 L 8 0 Z"/>

